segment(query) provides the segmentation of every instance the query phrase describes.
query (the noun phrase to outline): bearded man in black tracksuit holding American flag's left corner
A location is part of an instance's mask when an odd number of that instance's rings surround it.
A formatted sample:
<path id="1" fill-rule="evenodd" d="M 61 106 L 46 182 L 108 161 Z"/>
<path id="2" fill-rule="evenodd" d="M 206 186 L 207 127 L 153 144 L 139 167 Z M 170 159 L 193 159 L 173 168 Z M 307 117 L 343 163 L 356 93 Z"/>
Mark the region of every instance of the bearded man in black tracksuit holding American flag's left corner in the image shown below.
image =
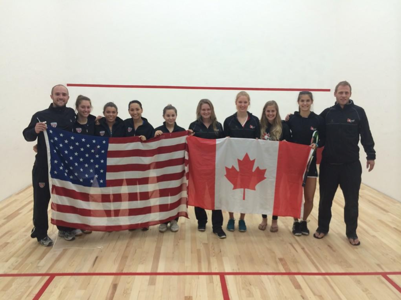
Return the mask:
<path id="1" fill-rule="evenodd" d="M 43 246 L 50 246 L 53 240 L 47 235 L 49 229 L 47 209 L 50 201 L 49 171 L 47 164 L 46 141 L 43 131 L 46 126 L 72 131 L 75 122 L 75 112 L 65 105 L 68 102 L 68 90 L 63 85 L 56 85 L 52 89 L 50 98 L 53 103 L 49 108 L 39 111 L 32 116 L 31 123 L 23 131 L 27 141 L 34 141 L 37 138 L 37 154 L 32 169 L 33 185 L 33 229 L 32 238 L 37 238 Z M 69 230 L 58 227 L 59 230 Z M 71 238 L 73 239 L 73 238 Z"/>

